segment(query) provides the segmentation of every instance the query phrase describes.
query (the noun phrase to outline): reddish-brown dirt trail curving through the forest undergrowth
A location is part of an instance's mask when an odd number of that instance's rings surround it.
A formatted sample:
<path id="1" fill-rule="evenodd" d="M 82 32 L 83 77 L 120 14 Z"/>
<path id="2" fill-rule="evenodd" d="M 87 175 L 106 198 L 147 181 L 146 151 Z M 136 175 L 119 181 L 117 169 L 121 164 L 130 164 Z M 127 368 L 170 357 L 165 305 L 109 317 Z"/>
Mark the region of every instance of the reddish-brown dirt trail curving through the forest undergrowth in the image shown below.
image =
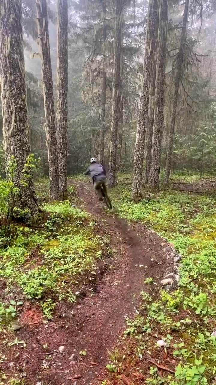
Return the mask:
<path id="1" fill-rule="evenodd" d="M 91 183 L 75 184 L 82 206 L 95 219 L 98 233 L 110 237 L 114 253 L 100 262 L 94 287 L 90 284 L 78 303 L 62 302 L 48 325 L 41 322 L 18 332 L 18 339 L 27 341 L 27 350 L 19 349 L 18 355 L 16 349 L 11 350 L 4 369 L 20 370 L 24 360 L 30 385 L 99 384 L 109 361 L 108 351 L 125 329 L 125 317 L 135 315 L 140 291 L 157 296 L 164 272 L 171 266 L 164 241 L 155 232 L 140 223 L 129 224 L 115 214 L 106 215 Z M 148 277 L 154 284 L 144 283 Z M 44 344 L 52 356 L 47 367 L 43 367 Z M 80 355 L 84 350 L 86 355 Z"/>

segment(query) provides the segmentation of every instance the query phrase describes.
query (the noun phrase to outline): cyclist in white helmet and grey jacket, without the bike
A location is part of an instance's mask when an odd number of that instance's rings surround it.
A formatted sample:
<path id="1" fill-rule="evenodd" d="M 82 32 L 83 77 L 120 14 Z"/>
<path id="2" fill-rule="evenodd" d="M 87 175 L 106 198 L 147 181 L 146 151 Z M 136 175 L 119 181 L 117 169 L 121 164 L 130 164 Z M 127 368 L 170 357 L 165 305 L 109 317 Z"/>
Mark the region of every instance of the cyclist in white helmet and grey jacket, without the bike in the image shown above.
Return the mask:
<path id="1" fill-rule="evenodd" d="M 85 172 L 86 175 L 91 175 L 93 185 L 95 188 L 95 192 L 99 198 L 99 201 L 103 201 L 101 194 L 101 186 L 103 187 L 103 191 L 106 192 L 106 171 L 102 164 L 96 162 L 96 158 L 90 159 L 90 167 Z"/>

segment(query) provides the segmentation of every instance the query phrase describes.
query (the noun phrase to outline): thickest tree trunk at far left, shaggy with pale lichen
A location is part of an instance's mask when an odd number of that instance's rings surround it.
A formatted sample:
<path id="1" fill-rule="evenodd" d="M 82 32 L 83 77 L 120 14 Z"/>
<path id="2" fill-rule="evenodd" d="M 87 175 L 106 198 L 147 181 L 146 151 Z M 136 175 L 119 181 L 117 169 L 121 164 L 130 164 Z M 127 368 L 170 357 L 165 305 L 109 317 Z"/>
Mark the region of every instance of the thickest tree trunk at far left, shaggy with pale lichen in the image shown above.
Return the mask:
<path id="1" fill-rule="evenodd" d="M 10 197 L 9 216 L 30 222 L 38 213 L 38 205 L 29 157 L 21 0 L 1 0 L 0 3 L 0 83 L 6 171 L 17 188 Z"/>

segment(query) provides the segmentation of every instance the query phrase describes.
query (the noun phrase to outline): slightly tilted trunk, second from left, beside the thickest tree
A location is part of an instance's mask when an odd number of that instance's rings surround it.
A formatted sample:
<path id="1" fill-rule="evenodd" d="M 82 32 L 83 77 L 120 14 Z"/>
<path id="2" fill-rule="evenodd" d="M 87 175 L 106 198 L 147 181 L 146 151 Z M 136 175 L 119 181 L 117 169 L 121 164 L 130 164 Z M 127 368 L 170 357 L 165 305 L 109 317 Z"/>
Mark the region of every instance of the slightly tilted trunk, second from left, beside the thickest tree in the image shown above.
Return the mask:
<path id="1" fill-rule="evenodd" d="M 38 42 L 42 57 L 43 97 L 46 119 L 48 163 L 50 174 L 50 200 L 59 199 L 58 152 L 53 100 L 53 79 L 50 59 L 50 40 L 47 18 L 47 0 L 37 0 Z"/>

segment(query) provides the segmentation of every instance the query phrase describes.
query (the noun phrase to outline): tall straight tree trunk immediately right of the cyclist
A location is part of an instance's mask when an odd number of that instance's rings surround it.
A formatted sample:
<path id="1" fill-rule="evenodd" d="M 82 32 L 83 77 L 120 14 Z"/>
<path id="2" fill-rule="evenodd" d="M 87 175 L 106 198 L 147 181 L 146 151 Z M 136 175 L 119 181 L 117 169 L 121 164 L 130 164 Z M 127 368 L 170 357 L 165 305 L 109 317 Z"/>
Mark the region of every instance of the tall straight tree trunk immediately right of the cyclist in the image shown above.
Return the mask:
<path id="1" fill-rule="evenodd" d="M 108 186 L 115 186 L 116 177 L 116 153 L 119 122 L 120 104 L 120 70 L 121 70 L 121 13 L 123 10 L 122 0 L 115 0 L 116 7 L 116 32 L 114 49 L 114 73 L 113 73 L 113 107 L 110 139 L 110 164 L 108 173 Z"/>

